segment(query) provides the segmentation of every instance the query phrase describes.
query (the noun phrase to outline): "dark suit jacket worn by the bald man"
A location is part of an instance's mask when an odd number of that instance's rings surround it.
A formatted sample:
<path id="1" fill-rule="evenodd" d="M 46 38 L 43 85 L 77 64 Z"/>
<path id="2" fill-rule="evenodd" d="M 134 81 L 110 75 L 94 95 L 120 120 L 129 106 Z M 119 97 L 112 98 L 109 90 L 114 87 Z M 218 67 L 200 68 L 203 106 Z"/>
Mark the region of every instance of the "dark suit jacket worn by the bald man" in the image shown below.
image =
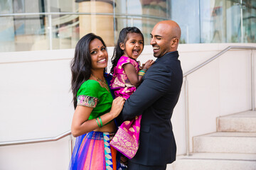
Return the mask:
<path id="1" fill-rule="evenodd" d="M 182 81 L 178 52 L 169 52 L 147 70 L 142 84 L 124 103 L 119 120 L 131 120 L 142 115 L 139 149 L 131 162 L 156 166 L 175 161 L 176 142 L 171 115 Z"/>

